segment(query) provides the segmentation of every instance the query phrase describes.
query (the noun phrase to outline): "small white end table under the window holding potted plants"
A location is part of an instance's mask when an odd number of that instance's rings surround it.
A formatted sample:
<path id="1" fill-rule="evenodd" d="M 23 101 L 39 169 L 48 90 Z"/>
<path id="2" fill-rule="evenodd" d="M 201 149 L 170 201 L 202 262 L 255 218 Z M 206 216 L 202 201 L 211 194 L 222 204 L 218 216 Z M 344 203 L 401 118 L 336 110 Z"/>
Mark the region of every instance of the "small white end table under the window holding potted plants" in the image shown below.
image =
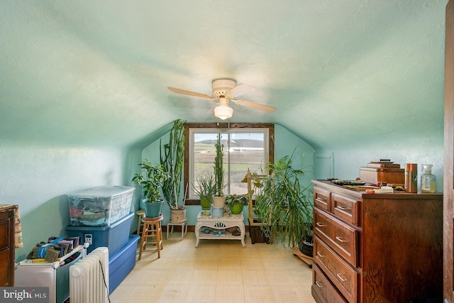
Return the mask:
<path id="1" fill-rule="evenodd" d="M 211 233 L 204 233 L 202 228 L 211 228 L 213 231 Z M 226 231 L 224 235 L 214 235 L 214 231 L 226 230 L 226 228 L 238 227 L 240 228 L 240 235 L 233 236 L 231 233 Z M 244 242 L 245 236 L 245 227 L 244 227 L 244 218 L 243 211 L 239 215 L 231 216 L 221 216 L 213 218 L 211 216 L 202 216 L 201 212 L 197 215 L 197 223 L 195 226 L 194 233 L 196 234 L 196 247 L 199 246 L 199 240 L 240 240 L 243 247 L 246 247 Z"/>

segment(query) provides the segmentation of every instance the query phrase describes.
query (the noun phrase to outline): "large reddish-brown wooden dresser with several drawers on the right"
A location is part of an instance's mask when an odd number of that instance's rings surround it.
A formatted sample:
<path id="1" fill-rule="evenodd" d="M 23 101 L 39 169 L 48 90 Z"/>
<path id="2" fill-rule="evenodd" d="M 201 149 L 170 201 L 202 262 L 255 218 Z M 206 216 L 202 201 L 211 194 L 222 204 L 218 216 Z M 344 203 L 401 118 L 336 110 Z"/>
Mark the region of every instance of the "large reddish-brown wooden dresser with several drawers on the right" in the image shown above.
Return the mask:
<path id="1" fill-rule="evenodd" d="M 316 302 L 443 298 L 443 194 L 313 183 Z"/>

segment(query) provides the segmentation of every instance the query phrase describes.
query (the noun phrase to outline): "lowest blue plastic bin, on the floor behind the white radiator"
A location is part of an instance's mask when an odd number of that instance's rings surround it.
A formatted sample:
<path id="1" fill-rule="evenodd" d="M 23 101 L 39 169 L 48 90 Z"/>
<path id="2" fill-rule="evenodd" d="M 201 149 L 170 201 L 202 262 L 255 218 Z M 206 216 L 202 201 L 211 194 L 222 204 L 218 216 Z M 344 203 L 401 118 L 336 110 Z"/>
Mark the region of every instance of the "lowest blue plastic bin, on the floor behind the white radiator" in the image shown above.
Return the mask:
<path id="1" fill-rule="evenodd" d="M 135 266 L 135 252 L 140 239 L 138 235 L 130 235 L 126 246 L 109 258 L 109 293 L 112 293 L 121 281 Z"/>

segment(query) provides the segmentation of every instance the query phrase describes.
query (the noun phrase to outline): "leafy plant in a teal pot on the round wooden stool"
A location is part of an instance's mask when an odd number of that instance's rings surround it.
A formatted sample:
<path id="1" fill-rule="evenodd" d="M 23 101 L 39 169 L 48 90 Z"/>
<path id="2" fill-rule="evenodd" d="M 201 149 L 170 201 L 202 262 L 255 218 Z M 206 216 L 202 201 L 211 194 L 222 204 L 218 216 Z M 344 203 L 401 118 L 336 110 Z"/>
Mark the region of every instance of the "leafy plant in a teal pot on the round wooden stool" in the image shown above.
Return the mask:
<path id="1" fill-rule="evenodd" d="M 143 187 L 143 209 L 145 216 L 154 218 L 160 216 L 162 209 L 162 199 L 160 188 L 162 183 L 167 180 L 170 175 L 164 171 L 164 167 L 160 164 L 153 164 L 148 160 L 143 160 L 140 164 L 143 172 L 136 173 L 131 180 L 137 185 Z"/>

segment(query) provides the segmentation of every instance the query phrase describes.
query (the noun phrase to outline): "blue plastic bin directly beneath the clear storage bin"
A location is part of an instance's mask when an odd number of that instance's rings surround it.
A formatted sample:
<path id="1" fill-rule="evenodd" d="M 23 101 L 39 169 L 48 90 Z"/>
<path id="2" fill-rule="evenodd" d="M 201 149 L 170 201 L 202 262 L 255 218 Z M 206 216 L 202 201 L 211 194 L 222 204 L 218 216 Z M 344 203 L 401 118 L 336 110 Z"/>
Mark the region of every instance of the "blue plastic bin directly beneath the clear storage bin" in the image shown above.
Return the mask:
<path id="1" fill-rule="evenodd" d="M 128 216 L 123 217 L 120 221 L 116 221 L 111 226 L 91 227 L 68 225 L 66 226 L 66 230 L 70 237 L 80 237 L 80 241 L 82 242 L 89 242 L 89 239 L 92 239 L 92 244 L 87 248 L 87 253 L 91 253 L 97 247 L 106 247 L 109 248 L 109 258 L 111 258 L 111 256 L 118 253 L 128 243 L 133 216 L 134 213 L 131 212 Z"/>

